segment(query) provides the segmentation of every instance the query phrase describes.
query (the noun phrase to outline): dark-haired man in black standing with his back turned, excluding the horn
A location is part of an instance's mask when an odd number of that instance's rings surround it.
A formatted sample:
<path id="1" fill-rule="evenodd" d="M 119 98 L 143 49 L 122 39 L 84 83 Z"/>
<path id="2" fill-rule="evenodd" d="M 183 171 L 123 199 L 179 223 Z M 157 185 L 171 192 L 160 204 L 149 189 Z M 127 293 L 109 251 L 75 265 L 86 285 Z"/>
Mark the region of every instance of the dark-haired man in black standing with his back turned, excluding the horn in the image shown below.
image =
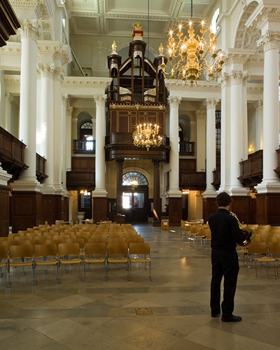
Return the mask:
<path id="1" fill-rule="evenodd" d="M 235 307 L 235 290 L 237 287 L 237 276 L 239 262 L 236 252 L 237 243 L 241 244 L 247 237 L 239 229 L 237 219 L 230 214 L 230 203 L 232 199 L 228 193 L 219 193 L 216 197 L 218 211 L 209 217 L 211 230 L 211 316 L 217 317 L 221 314 L 223 322 L 241 321 L 240 316 L 232 314 Z M 223 283 L 223 302 L 221 303 L 221 281 Z"/>

